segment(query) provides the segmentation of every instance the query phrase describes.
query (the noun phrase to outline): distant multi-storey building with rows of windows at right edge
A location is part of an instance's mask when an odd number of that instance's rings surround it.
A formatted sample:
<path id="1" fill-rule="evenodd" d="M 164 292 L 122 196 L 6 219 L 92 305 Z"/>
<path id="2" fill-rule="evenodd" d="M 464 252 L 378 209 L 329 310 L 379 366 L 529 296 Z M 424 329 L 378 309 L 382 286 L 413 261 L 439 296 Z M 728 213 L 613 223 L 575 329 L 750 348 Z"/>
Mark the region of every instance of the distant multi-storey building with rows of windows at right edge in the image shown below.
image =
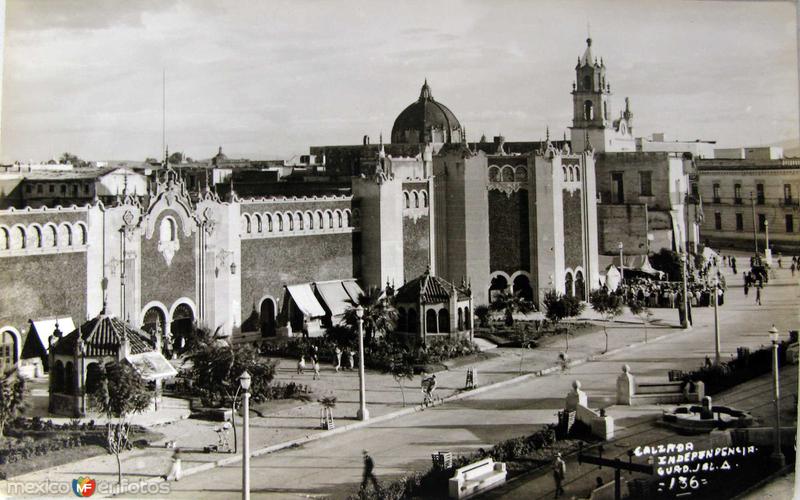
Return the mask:
<path id="1" fill-rule="evenodd" d="M 800 254 L 800 159 L 779 149 L 717 150 L 697 161 L 704 242 L 763 253 L 769 228 L 773 253 Z"/>

